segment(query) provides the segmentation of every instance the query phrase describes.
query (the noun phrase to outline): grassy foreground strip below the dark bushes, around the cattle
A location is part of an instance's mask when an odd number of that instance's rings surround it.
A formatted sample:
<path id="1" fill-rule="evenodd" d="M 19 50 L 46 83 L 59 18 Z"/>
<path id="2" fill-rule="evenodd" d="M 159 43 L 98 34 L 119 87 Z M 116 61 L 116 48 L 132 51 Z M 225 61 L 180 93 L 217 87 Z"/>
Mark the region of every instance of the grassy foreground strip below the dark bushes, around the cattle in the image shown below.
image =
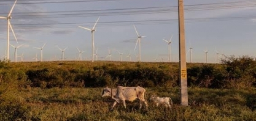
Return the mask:
<path id="1" fill-rule="evenodd" d="M 178 87 L 146 88 L 152 94 L 171 97 L 173 109 L 156 107 L 139 111 L 139 101 L 126 101 L 127 109 L 110 97 L 101 97 L 103 88 L 26 88 L 2 94 L 0 120 L 256 120 L 256 111 L 247 106 L 256 89 L 188 88 L 189 106 L 179 105 Z"/>

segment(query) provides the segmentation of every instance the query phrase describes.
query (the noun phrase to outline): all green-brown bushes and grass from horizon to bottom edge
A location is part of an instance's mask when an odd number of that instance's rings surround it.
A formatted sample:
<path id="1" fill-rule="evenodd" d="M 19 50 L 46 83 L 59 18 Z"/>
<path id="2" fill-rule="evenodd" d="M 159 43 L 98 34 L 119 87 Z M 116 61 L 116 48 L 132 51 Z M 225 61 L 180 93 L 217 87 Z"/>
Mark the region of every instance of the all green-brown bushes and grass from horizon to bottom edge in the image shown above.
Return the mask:
<path id="1" fill-rule="evenodd" d="M 179 64 L 136 62 L 5 62 L 0 60 L 0 120 L 255 120 L 256 62 L 188 64 L 189 106 L 179 105 Z M 103 87 L 142 86 L 171 97 L 173 109 L 127 109 L 101 97 Z"/>

